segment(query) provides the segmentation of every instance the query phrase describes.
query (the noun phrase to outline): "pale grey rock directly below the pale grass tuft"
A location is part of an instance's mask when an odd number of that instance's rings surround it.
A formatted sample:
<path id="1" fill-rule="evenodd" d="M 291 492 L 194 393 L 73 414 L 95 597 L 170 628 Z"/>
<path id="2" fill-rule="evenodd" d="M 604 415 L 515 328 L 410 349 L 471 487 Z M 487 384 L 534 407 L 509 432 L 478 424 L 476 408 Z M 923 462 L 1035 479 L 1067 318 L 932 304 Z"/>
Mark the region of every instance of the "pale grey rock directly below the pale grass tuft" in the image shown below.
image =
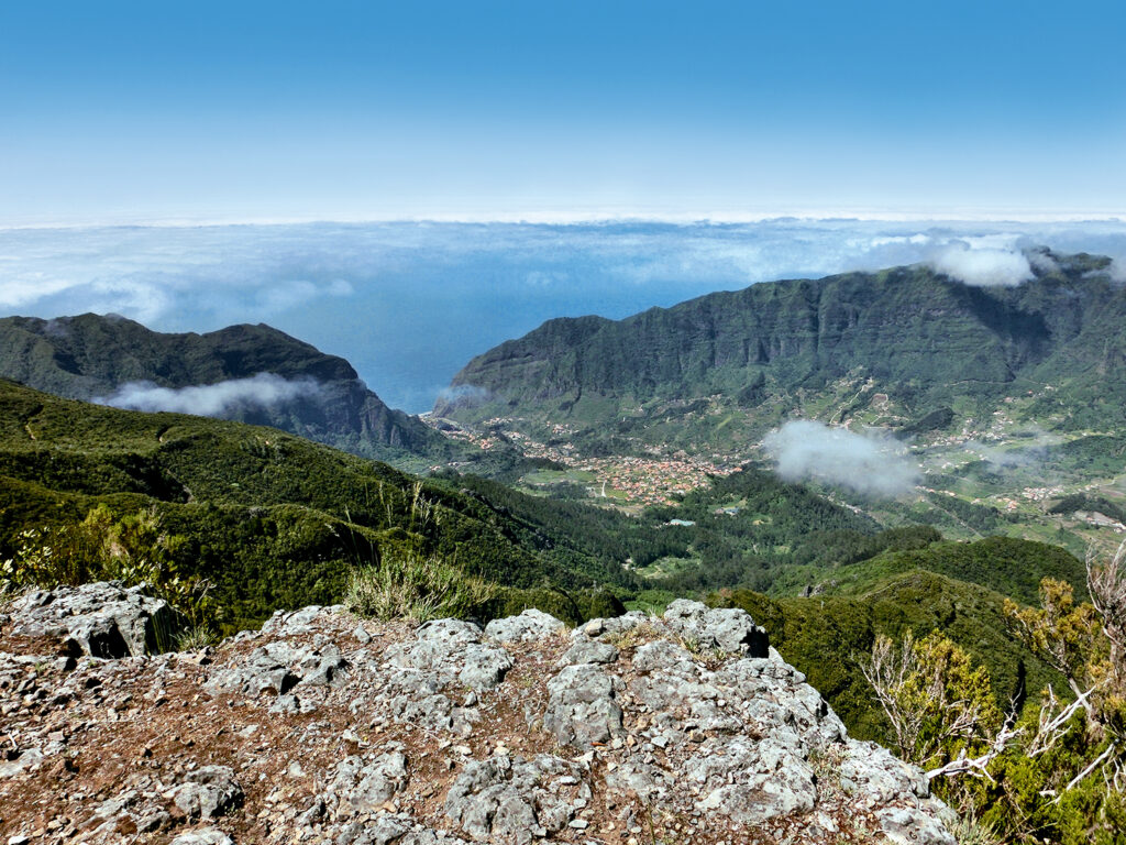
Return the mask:
<path id="1" fill-rule="evenodd" d="M 457 682 L 471 690 L 497 686 L 512 668 L 509 653 L 484 643 L 477 625 L 452 619 L 428 622 L 415 632 L 414 642 L 393 647 L 387 656 L 396 666 L 429 671 L 441 683 Z"/>

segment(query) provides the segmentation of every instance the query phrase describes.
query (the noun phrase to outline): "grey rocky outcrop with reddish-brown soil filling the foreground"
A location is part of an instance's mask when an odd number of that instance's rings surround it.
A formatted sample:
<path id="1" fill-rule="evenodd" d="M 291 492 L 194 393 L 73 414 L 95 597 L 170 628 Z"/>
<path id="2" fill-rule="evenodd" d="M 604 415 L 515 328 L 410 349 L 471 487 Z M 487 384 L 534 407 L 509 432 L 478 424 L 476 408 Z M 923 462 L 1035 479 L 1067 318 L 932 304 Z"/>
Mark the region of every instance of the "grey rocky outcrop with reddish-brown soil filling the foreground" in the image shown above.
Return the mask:
<path id="1" fill-rule="evenodd" d="M 742 611 L 276 614 L 145 656 L 115 585 L 0 612 L 0 843 L 949 843 Z"/>

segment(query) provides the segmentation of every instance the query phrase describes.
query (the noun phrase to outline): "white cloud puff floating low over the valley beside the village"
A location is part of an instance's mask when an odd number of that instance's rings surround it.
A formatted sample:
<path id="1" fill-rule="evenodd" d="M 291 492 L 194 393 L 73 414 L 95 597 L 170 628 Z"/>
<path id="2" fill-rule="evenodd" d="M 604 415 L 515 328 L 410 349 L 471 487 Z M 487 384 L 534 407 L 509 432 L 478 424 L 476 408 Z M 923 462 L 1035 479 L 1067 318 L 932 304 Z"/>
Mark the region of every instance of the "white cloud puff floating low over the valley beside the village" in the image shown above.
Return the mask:
<path id="1" fill-rule="evenodd" d="M 831 428 L 814 420 L 793 420 L 762 441 L 786 481 L 813 479 L 863 493 L 910 493 L 919 479 L 902 444 L 890 437 Z"/>

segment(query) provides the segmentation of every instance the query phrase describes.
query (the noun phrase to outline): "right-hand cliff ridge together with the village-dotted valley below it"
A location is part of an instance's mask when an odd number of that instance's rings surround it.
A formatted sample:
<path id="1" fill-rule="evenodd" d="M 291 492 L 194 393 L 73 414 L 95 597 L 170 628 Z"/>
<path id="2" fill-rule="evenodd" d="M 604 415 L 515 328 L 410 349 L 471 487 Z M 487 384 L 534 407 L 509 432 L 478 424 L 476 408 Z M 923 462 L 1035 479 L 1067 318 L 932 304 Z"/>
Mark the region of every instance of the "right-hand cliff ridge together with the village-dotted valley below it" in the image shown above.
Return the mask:
<path id="1" fill-rule="evenodd" d="M 1044 269 L 1019 288 L 895 268 L 618 322 L 549 321 L 479 356 L 454 380 L 472 399 L 439 402 L 428 421 L 566 468 L 525 474 L 521 489 L 636 513 L 744 463 L 771 465 L 763 437 L 819 420 L 894 437 L 917 468 L 894 497 L 803 478 L 884 527 L 1107 549 L 1123 521 L 1066 506 L 1126 504 L 1126 322 L 1107 317 L 1126 296 L 1100 275 L 1106 259 L 1040 255 Z"/>

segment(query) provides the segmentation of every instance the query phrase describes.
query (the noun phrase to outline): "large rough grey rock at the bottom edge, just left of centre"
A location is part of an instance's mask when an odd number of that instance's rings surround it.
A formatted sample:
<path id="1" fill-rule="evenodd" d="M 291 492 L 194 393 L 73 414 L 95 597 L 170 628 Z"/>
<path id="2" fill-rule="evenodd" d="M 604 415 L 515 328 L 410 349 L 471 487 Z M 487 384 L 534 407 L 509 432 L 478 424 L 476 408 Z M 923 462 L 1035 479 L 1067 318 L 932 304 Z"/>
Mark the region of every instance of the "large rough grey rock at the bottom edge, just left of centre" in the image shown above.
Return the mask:
<path id="1" fill-rule="evenodd" d="M 570 760 L 546 754 L 471 763 L 449 789 L 446 815 L 479 842 L 524 845 L 568 826 L 575 806 L 566 793 L 590 798 L 582 774 Z"/>

